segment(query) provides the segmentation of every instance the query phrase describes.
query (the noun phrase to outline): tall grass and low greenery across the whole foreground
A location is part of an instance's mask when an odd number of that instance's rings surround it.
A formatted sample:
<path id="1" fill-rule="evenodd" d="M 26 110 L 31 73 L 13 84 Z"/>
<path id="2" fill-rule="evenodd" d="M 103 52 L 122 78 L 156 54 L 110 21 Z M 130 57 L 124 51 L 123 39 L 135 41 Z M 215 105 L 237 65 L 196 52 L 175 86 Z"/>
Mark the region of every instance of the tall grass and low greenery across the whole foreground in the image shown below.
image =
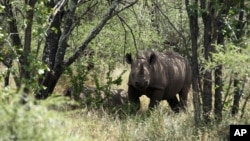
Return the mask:
<path id="1" fill-rule="evenodd" d="M 191 97 L 186 113 L 175 114 L 163 102 L 131 114 L 129 105 L 116 111 L 87 106 L 71 110 L 71 101 L 59 96 L 45 101 L 31 97 L 21 105 L 21 93 L 4 88 L 0 93 L 0 141 L 221 141 L 228 140 L 230 124 L 250 123 L 248 108 L 243 118 L 224 111 L 220 124 L 196 128 Z"/>

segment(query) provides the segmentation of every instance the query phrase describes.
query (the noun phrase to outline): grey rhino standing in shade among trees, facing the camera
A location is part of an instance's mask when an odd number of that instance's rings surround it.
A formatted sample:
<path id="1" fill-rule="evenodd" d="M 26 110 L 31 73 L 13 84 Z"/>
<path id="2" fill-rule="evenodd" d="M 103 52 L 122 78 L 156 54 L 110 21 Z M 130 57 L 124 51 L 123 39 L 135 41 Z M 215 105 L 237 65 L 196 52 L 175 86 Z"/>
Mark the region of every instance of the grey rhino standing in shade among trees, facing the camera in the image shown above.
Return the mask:
<path id="1" fill-rule="evenodd" d="M 146 51 L 134 60 L 131 54 L 126 54 L 126 61 L 131 65 L 128 81 L 131 102 L 139 103 L 139 97 L 145 94 L 150 98 L 150 107 L 167 100 L 173 111 L 185 110 L 192 76 L 184 57 L 175 52 Z"/>

